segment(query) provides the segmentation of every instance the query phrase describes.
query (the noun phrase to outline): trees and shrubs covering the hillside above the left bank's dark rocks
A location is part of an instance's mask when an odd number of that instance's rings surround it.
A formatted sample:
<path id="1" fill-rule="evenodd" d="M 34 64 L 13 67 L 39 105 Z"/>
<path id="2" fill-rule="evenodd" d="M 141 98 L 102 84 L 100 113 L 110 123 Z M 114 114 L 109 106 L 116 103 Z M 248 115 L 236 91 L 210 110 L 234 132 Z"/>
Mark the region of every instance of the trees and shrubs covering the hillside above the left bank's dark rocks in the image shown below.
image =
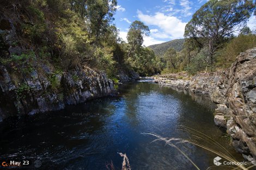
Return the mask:
<path id="1" fill-rule="evenodd" d="M 55 72 L 87 66 L 112 79 L 120 71 L 128 76 L 161 72 L 154 53 L 142 47 L 143 35 L 149 34 L 142 22 L 131 24 L 128 43 L 120 41 L 113 24 L 116 0 L 0 2 L 0 65 L 17 77 L 16 84 L 40 70 L 36 63 Z"/>

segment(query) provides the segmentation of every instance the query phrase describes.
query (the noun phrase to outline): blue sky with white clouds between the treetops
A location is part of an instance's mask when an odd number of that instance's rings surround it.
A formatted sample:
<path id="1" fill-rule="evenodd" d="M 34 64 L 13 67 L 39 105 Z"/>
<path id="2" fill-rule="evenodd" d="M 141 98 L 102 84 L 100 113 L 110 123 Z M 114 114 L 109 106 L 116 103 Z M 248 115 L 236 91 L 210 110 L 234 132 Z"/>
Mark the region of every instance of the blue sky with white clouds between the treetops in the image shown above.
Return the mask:
<path id="1" fill-rule="evenodd" d="M 119 36 L 126 41 L 130 24 L 139 20 L 149 26 L 150 36 L 144 37 L 144 45 L 149 46 L 183 38 L 186 23 L 208 0 L 118 0 L 114 15 Z M 254 27 L 255 17 L 249 24 Z"/>

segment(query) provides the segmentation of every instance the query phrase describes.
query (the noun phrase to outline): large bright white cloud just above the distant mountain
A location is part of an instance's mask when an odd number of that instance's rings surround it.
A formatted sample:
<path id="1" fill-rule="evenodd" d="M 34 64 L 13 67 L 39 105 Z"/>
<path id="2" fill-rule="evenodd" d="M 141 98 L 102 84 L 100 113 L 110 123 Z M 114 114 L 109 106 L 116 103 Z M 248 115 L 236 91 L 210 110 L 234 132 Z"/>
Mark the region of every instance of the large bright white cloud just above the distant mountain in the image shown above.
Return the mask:
<path id="1" fill-rule="evenodd" d="M 139 20 L 144 22 L 146 25 L 161 28 L 161 33 L 155 33 L 152 36 L 162 39 L 177 39 L 183 37 L 186 23 L 182 22 L 179 18 L 175 16 L 167 16 L 161 12 L 156 12 L 155 15 L 145 15 L 138 10 L 137 14 Z"/>

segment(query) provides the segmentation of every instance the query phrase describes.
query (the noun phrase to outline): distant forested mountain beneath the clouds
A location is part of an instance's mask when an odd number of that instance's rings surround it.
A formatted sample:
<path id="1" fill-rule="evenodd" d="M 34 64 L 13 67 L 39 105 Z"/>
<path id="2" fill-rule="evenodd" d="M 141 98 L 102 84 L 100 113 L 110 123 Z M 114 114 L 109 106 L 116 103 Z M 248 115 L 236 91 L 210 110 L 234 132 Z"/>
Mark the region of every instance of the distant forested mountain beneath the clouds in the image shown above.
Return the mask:
<path id="1" fill-rule="evenodd" d="M 184 42 L 185 39 L 177 39 L 148 47 L 153 49 L 156 55 L 162 56 L 169 48 L 173 48 L 178 52 L 181 51 L 183 49 Z"/>

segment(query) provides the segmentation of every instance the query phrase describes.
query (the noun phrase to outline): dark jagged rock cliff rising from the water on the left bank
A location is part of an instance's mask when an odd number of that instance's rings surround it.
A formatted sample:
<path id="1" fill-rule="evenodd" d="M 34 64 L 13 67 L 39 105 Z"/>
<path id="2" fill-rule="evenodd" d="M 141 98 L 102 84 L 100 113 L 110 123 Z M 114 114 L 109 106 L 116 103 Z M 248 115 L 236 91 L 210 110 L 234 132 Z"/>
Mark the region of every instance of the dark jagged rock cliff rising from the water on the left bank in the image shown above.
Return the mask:
<path id="1" fill-rule="evenodd" d="M 53 72 L 41 65 L 15 85 L 15 76 L 0 66 L 0 121 L 9 116 L 60 110 L 65 105 L 114 92 L 113 81 L 105 73 L 76 67 L 68 72 Z"/>

